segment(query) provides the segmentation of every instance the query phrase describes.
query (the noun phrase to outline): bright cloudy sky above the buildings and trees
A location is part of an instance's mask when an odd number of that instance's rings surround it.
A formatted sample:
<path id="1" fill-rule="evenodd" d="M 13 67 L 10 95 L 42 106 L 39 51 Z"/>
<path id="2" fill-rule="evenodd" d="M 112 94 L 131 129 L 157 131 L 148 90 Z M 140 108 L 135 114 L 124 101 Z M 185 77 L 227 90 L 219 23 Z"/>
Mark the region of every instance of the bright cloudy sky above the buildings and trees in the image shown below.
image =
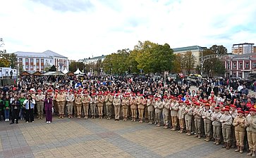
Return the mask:
<path id="1" fill-rule="evenodd" d="M 254 0 L 2 0 L 0 47 L 51 50 L 70 60 L 130 48 L 138 41 L 185 46 L 256 46 Z"/>

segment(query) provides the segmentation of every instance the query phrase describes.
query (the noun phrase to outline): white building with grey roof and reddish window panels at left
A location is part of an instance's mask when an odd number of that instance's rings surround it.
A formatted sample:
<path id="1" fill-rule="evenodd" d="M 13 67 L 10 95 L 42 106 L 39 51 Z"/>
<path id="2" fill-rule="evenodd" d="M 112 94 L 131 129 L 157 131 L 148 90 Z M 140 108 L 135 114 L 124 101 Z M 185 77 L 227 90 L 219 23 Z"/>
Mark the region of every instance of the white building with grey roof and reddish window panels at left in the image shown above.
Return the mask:
<path id="1" fill-rule="evenodd" d="M 55 65 L 57 71 L 69 70 L 68 58 L 53 51 L 43 53 L 17 51 L 18 67 L 22 66 L 24 71 L 44 72 L 45 67 Z"/>

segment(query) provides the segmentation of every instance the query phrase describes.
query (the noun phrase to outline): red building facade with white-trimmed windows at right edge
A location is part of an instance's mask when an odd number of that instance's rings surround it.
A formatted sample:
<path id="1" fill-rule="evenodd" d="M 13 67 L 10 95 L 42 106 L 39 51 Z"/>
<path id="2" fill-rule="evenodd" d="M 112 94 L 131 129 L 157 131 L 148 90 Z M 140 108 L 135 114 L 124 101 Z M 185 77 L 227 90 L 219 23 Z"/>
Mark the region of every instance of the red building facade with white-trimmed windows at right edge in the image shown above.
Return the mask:
<path id="1" fill-rule="evenodd" d="M 226 55 L 224 57 L 226 77 L 248 78 L 248 74 L 256 73 L 256 53 L 243 55 Z"/>

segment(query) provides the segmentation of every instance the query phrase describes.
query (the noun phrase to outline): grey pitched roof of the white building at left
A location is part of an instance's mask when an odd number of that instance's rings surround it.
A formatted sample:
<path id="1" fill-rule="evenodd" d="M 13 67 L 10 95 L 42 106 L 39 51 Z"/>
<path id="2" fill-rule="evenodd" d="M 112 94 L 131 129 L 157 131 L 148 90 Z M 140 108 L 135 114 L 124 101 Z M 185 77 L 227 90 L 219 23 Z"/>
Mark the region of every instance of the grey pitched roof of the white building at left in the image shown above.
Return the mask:
<path id="1" fill-rule="evenodd" d="M 43 57 L 43 58 L 51 58 L 51 57 L 58 57 L 58 58 L 67 58 L 63 55 L 55 53 L 53 51 L 44 51 L 42 53 L 35 53 L 35 52 L 25 52 L 25 51 L 17 51 L 15 53 L 17 56 L 24 56 L 24 57 Z"/>

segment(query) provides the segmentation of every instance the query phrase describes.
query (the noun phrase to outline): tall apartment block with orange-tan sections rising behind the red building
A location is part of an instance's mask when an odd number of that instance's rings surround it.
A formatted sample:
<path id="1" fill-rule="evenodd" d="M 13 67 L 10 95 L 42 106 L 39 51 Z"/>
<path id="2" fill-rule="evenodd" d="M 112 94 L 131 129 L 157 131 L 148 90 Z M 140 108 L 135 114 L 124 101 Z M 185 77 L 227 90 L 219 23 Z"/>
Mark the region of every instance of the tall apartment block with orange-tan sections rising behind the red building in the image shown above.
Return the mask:
<path id="1" fill-rule="evenodd" d="M 247 53 L 256 53 L 256 46 L 254 44 L 233 44 L 232 53 L 235 55 L 247 54 Z"/>

